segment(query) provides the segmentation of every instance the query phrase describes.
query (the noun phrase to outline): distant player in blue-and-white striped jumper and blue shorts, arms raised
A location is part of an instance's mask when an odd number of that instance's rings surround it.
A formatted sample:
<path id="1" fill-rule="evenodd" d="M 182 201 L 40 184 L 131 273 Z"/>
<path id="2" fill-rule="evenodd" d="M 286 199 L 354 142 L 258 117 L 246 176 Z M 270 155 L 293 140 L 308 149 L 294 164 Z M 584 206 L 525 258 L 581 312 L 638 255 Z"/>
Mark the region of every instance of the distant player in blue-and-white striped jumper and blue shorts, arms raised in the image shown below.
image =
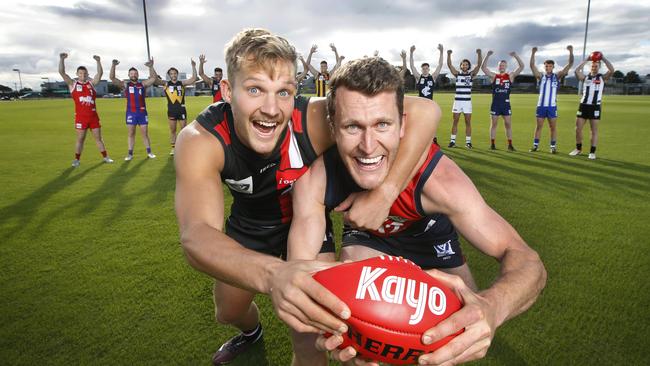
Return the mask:
<path id="1" fill-rule="evenodd" d="M 548 126 L 551 129 L 551 154 L 557 153 L 557 90 L 560 87 L 562 79 L 567 76 L 571 66 L 573 66 L 573 46 L 568 45 L 569 63 L 557 74 L 553 73 L 555 61 L 544 61 L 544 73 L 542 74 L 535 65 L 535 53 L 537 47 L 533 47 L 530 54 L 530 69 L 533 71 L 535 79 L 539 82 L 539 99 L 537 100 L 537 126 L 535 127 L 535 137 L 531 152 L 537 151 L 539 147 L 539 138 L 542 135 L 544 120 L 548 119 Z"/>

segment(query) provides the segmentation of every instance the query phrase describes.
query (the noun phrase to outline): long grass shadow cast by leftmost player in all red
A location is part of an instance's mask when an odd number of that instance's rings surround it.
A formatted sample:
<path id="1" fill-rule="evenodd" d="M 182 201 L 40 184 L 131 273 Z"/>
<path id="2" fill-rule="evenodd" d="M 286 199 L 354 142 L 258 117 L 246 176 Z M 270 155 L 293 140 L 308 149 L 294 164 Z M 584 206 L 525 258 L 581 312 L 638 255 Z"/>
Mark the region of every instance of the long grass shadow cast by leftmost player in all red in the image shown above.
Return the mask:
<path id="1" fill-rule="evenodd" d="M 31 221 L 36 217 L 37 211 L 56 193 L 69 188 L 77 181 L 81 180 L 91 171 L 104 165 L 104 163 L 97 163 L 90 166 L 88 169 L 81 171 L 79 168 L 69 167 L 61 172 L 60 175 L 45 183 L 37 190 L 30 193 L 27 197 L 15 202 L 9 206 L 0 209 L 0 225 L 5 225 L 13 220 L 16 220 L 13 229 L 7 231 L 3 235 L 3 239 L 8 239 L 16 235 L 18 232 L 27 229 Z M 78 174 L 73 172 L 78 171 Z M 60 210 L 59 212 L 63 212 Z M 48 217 L 48 221 L 51 217 Z"/>

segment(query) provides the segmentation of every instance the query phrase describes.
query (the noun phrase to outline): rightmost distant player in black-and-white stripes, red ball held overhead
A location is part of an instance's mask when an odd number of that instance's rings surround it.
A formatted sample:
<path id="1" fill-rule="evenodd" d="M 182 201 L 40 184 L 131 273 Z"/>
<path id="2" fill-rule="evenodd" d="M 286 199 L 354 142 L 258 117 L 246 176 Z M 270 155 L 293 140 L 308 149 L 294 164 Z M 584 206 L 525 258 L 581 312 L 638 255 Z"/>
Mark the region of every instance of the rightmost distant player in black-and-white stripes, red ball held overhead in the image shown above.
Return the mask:
<path id="1" fill-rule="evenodd" d="M 614 66 L 611 62 L 602 56 L 602 61 L 607 66 L 607 72 L 603 75 L 600 72 L 600 61 L 591 61 L 591 71 L 587 76 L 582 69 L 589 59 L 582 61 L 576 67 L 576 78 L 584 81 L 582 85 L 582 98 L 580 98 L 580 107 L 576 118 L 576 148 L 569 155 L 576 156 L 582 153 L 582 128 L 585 122 L 589 120 L 591 126 L 591 150 L 589 150 L 589 159 L 596 159 L 596 144 L 598 144 L 598 121 L 600 121 L 601 110 L 600 103 L 605 91 L 605 82 L 614 74 Z"/>

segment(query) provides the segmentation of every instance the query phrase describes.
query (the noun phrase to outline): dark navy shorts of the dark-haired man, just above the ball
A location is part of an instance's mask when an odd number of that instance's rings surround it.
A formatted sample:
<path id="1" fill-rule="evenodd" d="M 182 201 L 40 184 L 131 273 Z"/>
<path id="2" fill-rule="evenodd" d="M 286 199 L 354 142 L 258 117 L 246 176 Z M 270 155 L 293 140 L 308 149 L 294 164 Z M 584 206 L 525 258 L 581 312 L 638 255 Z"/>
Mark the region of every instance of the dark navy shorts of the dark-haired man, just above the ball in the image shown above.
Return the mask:
<path id="1" fill-rule="evenodd" d="M 362 245 L 395 257 L 406 258 L 422 269 L 456 268 L 465 264 L 456 230 L 446 223 L 440 229 L 434 223 L 428 229 L 431 218 L 422 225 L 414 225 L 404 233 L 379 237 L 348 226 L 343 228 L 343 247 Z M 448 219 L 447 219 L 448 220 Z M 451 229 L 450 229 L 451 228 Z"/>

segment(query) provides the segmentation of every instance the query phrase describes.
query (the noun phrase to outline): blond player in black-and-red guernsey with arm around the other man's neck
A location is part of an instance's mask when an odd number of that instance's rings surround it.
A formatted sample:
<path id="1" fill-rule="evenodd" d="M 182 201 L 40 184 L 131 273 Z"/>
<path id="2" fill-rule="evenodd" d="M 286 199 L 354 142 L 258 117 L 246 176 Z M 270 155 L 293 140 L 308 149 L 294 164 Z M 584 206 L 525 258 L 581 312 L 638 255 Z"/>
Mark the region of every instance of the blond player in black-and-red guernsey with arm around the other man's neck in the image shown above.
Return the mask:
<path id="1" fill-rule="evenodd" d="M 241 331 L 214 354 L 215 365 L 231 361 L 261 337 L 256 293 L 270 295 L 277 315 L 297 332 L 340 333 L 345 324 L 332 313 L 349 316 L 345 304 L 311 277 L 333 265 L 329 240 L 321 254 L 328 262 L 282 260 L 292 217 L 289 192 L 333 144 L 325 100 L 295 98 L 297 55 L 280 36 L 247 29 L 229 42 L 225 53 L 225 103 L 208 106 L 181 131 L 175 156 L 183 249 L 194 268 L 216 280 L 217 321 Z M 406 110 L 412 123 L 399 162 L 382 185 L 357 197 L 346 213 L 357 227 L 381 225 L 433 135 L 431 102 L 410 98 Z M 225 224 L 223 183 L 233 196 Z M 296 339 L 295 365 L 326 362 L 320 353 L 300 352 L 300 342 L 313 338 Z"/>

